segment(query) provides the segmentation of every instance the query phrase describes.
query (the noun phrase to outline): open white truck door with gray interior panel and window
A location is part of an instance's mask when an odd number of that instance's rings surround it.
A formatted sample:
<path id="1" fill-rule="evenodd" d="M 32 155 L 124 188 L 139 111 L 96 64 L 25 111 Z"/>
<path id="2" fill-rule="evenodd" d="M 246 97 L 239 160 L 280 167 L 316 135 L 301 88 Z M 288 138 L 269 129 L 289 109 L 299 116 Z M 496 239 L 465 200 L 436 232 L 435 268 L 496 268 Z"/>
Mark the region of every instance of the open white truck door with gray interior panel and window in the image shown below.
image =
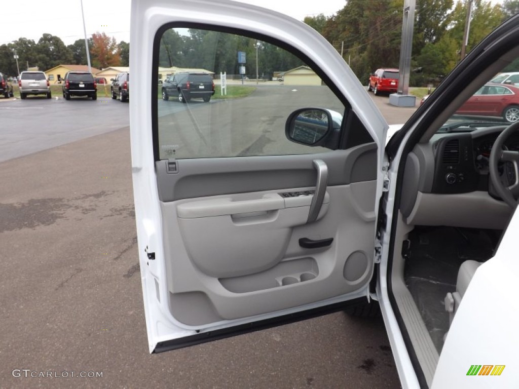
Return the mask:
<path id="1" fill-rule="evenodd" d="M 367 301 L 388 126 L 336 50 L 230 1 L 134 0 L 131 25 L 150 352 Z"/>

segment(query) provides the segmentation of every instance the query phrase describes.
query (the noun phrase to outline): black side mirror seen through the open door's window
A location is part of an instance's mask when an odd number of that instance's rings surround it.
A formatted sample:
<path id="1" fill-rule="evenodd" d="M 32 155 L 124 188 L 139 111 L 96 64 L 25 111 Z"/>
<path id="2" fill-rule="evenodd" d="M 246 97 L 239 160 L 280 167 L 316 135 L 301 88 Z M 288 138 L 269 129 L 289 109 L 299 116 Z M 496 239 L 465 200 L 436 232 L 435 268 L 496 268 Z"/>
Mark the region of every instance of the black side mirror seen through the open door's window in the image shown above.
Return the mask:
<path id="1" fill-rule="evenodd" d="M 297 109 L 286 119 L 285 136 L 302 145 L 336 150 L 342 119 L 342 115 L 329 109 Z"/>

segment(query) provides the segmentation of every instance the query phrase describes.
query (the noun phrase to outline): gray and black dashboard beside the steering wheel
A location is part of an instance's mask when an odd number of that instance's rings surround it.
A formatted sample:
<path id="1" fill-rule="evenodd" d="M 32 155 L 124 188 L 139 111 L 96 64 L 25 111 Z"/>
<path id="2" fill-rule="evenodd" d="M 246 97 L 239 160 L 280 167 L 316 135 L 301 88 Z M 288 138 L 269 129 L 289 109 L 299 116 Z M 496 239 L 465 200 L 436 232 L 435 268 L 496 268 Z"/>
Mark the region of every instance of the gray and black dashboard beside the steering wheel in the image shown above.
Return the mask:
<path id="1" fill-rule="evenodd" d="M 502 229 L 512 212 L 495 192 L 489 157 L 507 125 L 439 131 L 409 152 L 400 211 L 408 225 Z M 519 132 L 505 147 L 519 151 Z M 510 166 L 509 166 L 510 165 Z M 511 163 L 499 165 L 504 183 L 515 182 Z M 503 174 L 506 173 L 506 174 Z"/>

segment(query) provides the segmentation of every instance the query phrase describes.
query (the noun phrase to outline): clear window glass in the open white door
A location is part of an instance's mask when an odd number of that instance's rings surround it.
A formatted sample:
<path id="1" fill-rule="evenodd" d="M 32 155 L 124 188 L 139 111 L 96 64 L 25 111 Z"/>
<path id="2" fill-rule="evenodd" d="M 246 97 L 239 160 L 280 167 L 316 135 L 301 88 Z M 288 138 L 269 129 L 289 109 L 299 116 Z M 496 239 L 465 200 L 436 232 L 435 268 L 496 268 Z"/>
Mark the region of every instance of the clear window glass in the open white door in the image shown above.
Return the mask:
<path id="1" fill-rule="evenodd" d="M 330 151 L 285 136 L 285 122 L 298 108 L 325 107 L 340 115 L 345 110 L 319 75 L 289 51 L 245 36 L 182 28 L 165 31 L 158 50 L 155 72 L 182 73 L 159 84 L 160 159 Z"/>

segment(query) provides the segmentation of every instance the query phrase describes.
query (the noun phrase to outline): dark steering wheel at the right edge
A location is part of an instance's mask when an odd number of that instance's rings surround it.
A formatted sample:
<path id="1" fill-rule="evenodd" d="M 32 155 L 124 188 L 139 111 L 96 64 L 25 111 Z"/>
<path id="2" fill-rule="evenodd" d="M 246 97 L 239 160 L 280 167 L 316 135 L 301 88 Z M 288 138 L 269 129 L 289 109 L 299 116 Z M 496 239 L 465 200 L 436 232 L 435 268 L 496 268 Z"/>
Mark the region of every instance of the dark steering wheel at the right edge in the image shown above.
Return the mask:
<path id="1" fill-rule="evenodd" d="M 504 141 L 514 132 L 519 130 L 519 121 L 508 126 L 499 134 L 490 151 L 489 169 L 490 180 L 498 195 L 512 208 L 517 205 L 519 199 L 519 151 L 503 150 Z M 499 174 L 499 162 L 510 162 L 504 164 L 503 174 Z M 515 174 L 514 174 L 515 173 Z M 510 185 L 509 176 L 514 177 L 514 183 Z"/>

